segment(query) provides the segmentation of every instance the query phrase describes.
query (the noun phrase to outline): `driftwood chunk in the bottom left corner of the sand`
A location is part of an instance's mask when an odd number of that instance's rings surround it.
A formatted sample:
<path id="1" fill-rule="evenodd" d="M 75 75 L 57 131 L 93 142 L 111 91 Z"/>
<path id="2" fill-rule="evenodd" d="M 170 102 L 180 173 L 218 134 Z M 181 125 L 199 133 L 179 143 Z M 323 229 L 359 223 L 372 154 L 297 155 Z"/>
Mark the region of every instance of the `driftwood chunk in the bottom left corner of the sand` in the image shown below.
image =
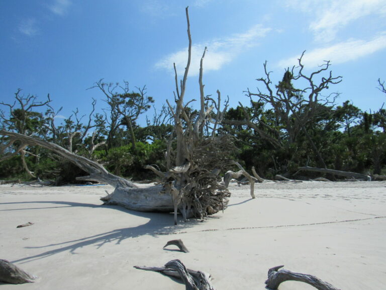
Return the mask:
<path id="1" fill-rule="evenodd" d="M 35 277 L 13 263 L 0 259 L 0 281 L 10 284 L 33 283 Z"/>

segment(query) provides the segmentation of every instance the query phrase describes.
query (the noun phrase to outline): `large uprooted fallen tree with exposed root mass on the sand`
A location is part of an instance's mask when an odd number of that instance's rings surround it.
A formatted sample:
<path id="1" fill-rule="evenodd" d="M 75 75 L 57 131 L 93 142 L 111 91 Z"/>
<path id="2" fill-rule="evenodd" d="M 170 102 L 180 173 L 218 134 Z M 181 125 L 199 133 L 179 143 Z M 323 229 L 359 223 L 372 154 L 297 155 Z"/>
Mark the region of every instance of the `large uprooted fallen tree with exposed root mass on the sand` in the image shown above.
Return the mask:
<path id="1" fill-rule="evenodd" d="M 138 188 L 133 182 L 111 174 L 99 163 L 78 156 L 55 143 L 6 130 L 0 130 L 0 134 L 4 136 L 0 145 L 2 154 L 0 161 L 22 153 L 27 146 L 49 149 L 89 174 L 78 177 L 77 180 L 98 181 L 114 186 L 114 192 L 102 198 L 105 204 L 121 205 L 138 211 L 174 211 L 175 224 L 177 210 L 186 220 L 191 216 L 203 219 L 207 214 L 213 214 L 226 208 L 230 193 L 220 183 L 219 172 L 226 171 L 227 167 L 232 164 L 229 156 L 234 152 L 235 147 L 232 138 L 228 135 L 219 135 L 217 129 L 227 108 L 227 102 L 224 109 L 221 110 L 220 91 L 217 91 L 217 100 L 204 94 L 203 60 L 207 51 L 205 48 L 200 62 L 200 109 L 198 113 L 194 113 L 188 107 L 189 103 L 195 100 L 184 103 L 191 58 L 188 8 L 185 12 L 188 58 L 180 86 L 178 86 L 174 64 L 175 106 L 167 102 L 174 120 L 173 132 L 170 135 L 165 154 L 167 170 L 161 172 L 153 166 L 146 167 L 161 177 L 160 185 Z M 204 134 L 204 128 L 209 133 Z"/>

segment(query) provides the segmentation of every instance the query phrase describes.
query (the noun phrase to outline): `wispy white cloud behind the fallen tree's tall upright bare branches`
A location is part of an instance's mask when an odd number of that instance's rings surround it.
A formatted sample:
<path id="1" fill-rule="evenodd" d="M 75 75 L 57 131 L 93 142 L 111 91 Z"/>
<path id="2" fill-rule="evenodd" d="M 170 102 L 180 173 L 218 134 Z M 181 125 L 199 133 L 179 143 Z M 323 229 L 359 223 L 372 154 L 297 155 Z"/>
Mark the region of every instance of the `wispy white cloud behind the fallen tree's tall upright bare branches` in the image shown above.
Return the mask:
<path id="1" fill-rule="evenodd" d="M 258 45 L 258 40 L 263 38 L 271 29 L 256 25 L 245 33 L 235 34 L 229 38 L 214 39 L 207 43 L 192 45 L 189 75 L 196 76 L 200 70 L 200 60 L 205 46 L 208 51 L 204 59 L 205 71 L 218 70 L 223 65 L 231 62 L 245 49 Z M 183 73 L 187 61 L 187 48 L 181 49 L 163 57 L 155 64 L 156 68 L 173 71 L 175 63 L 177 73 Z"/>

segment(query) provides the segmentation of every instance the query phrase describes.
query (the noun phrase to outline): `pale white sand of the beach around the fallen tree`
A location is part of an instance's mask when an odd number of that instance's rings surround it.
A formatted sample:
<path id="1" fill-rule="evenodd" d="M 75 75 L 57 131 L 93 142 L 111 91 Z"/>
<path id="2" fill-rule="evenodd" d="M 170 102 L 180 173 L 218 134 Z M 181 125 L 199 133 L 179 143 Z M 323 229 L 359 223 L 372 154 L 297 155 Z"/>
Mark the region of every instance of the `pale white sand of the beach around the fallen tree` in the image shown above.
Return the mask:
<path id="1" fill-rule="evenodd" d="M 141 185 L 143 186 L 143 185 Z M 230 206 L 204 222 L 101 206 L 110 186 L 0 186 L 0 258 L 37 275 L 7 289 L 184 289 L 133 268 L 180 259 L 222 289 L 264 289 L 277 265 L 341 289 L 384 289 L 386 182 L 231 185 Z M 34 225 L 17 229 L 27 222 Z M 182 239 L 189 253 L 163 250 Z M 173 249 L 173 247 L 169 247 Z M 285 282 L 279 289 L 314 289 Z"/>

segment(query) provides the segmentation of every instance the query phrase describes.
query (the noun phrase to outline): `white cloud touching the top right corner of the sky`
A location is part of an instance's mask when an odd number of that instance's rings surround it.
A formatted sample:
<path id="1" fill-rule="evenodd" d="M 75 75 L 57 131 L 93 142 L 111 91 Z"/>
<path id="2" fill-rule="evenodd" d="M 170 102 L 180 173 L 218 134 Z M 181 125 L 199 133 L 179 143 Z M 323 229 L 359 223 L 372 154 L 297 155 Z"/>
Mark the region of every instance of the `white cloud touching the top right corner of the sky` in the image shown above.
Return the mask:
<path id="1" fill-rule="evenodd" d="M 314 19 L 309 29 L 320 42 L 334 40 L 341 29 L 365 16 L 386 16 L 384 0 L 291 0 L 287 6 Z"/>

